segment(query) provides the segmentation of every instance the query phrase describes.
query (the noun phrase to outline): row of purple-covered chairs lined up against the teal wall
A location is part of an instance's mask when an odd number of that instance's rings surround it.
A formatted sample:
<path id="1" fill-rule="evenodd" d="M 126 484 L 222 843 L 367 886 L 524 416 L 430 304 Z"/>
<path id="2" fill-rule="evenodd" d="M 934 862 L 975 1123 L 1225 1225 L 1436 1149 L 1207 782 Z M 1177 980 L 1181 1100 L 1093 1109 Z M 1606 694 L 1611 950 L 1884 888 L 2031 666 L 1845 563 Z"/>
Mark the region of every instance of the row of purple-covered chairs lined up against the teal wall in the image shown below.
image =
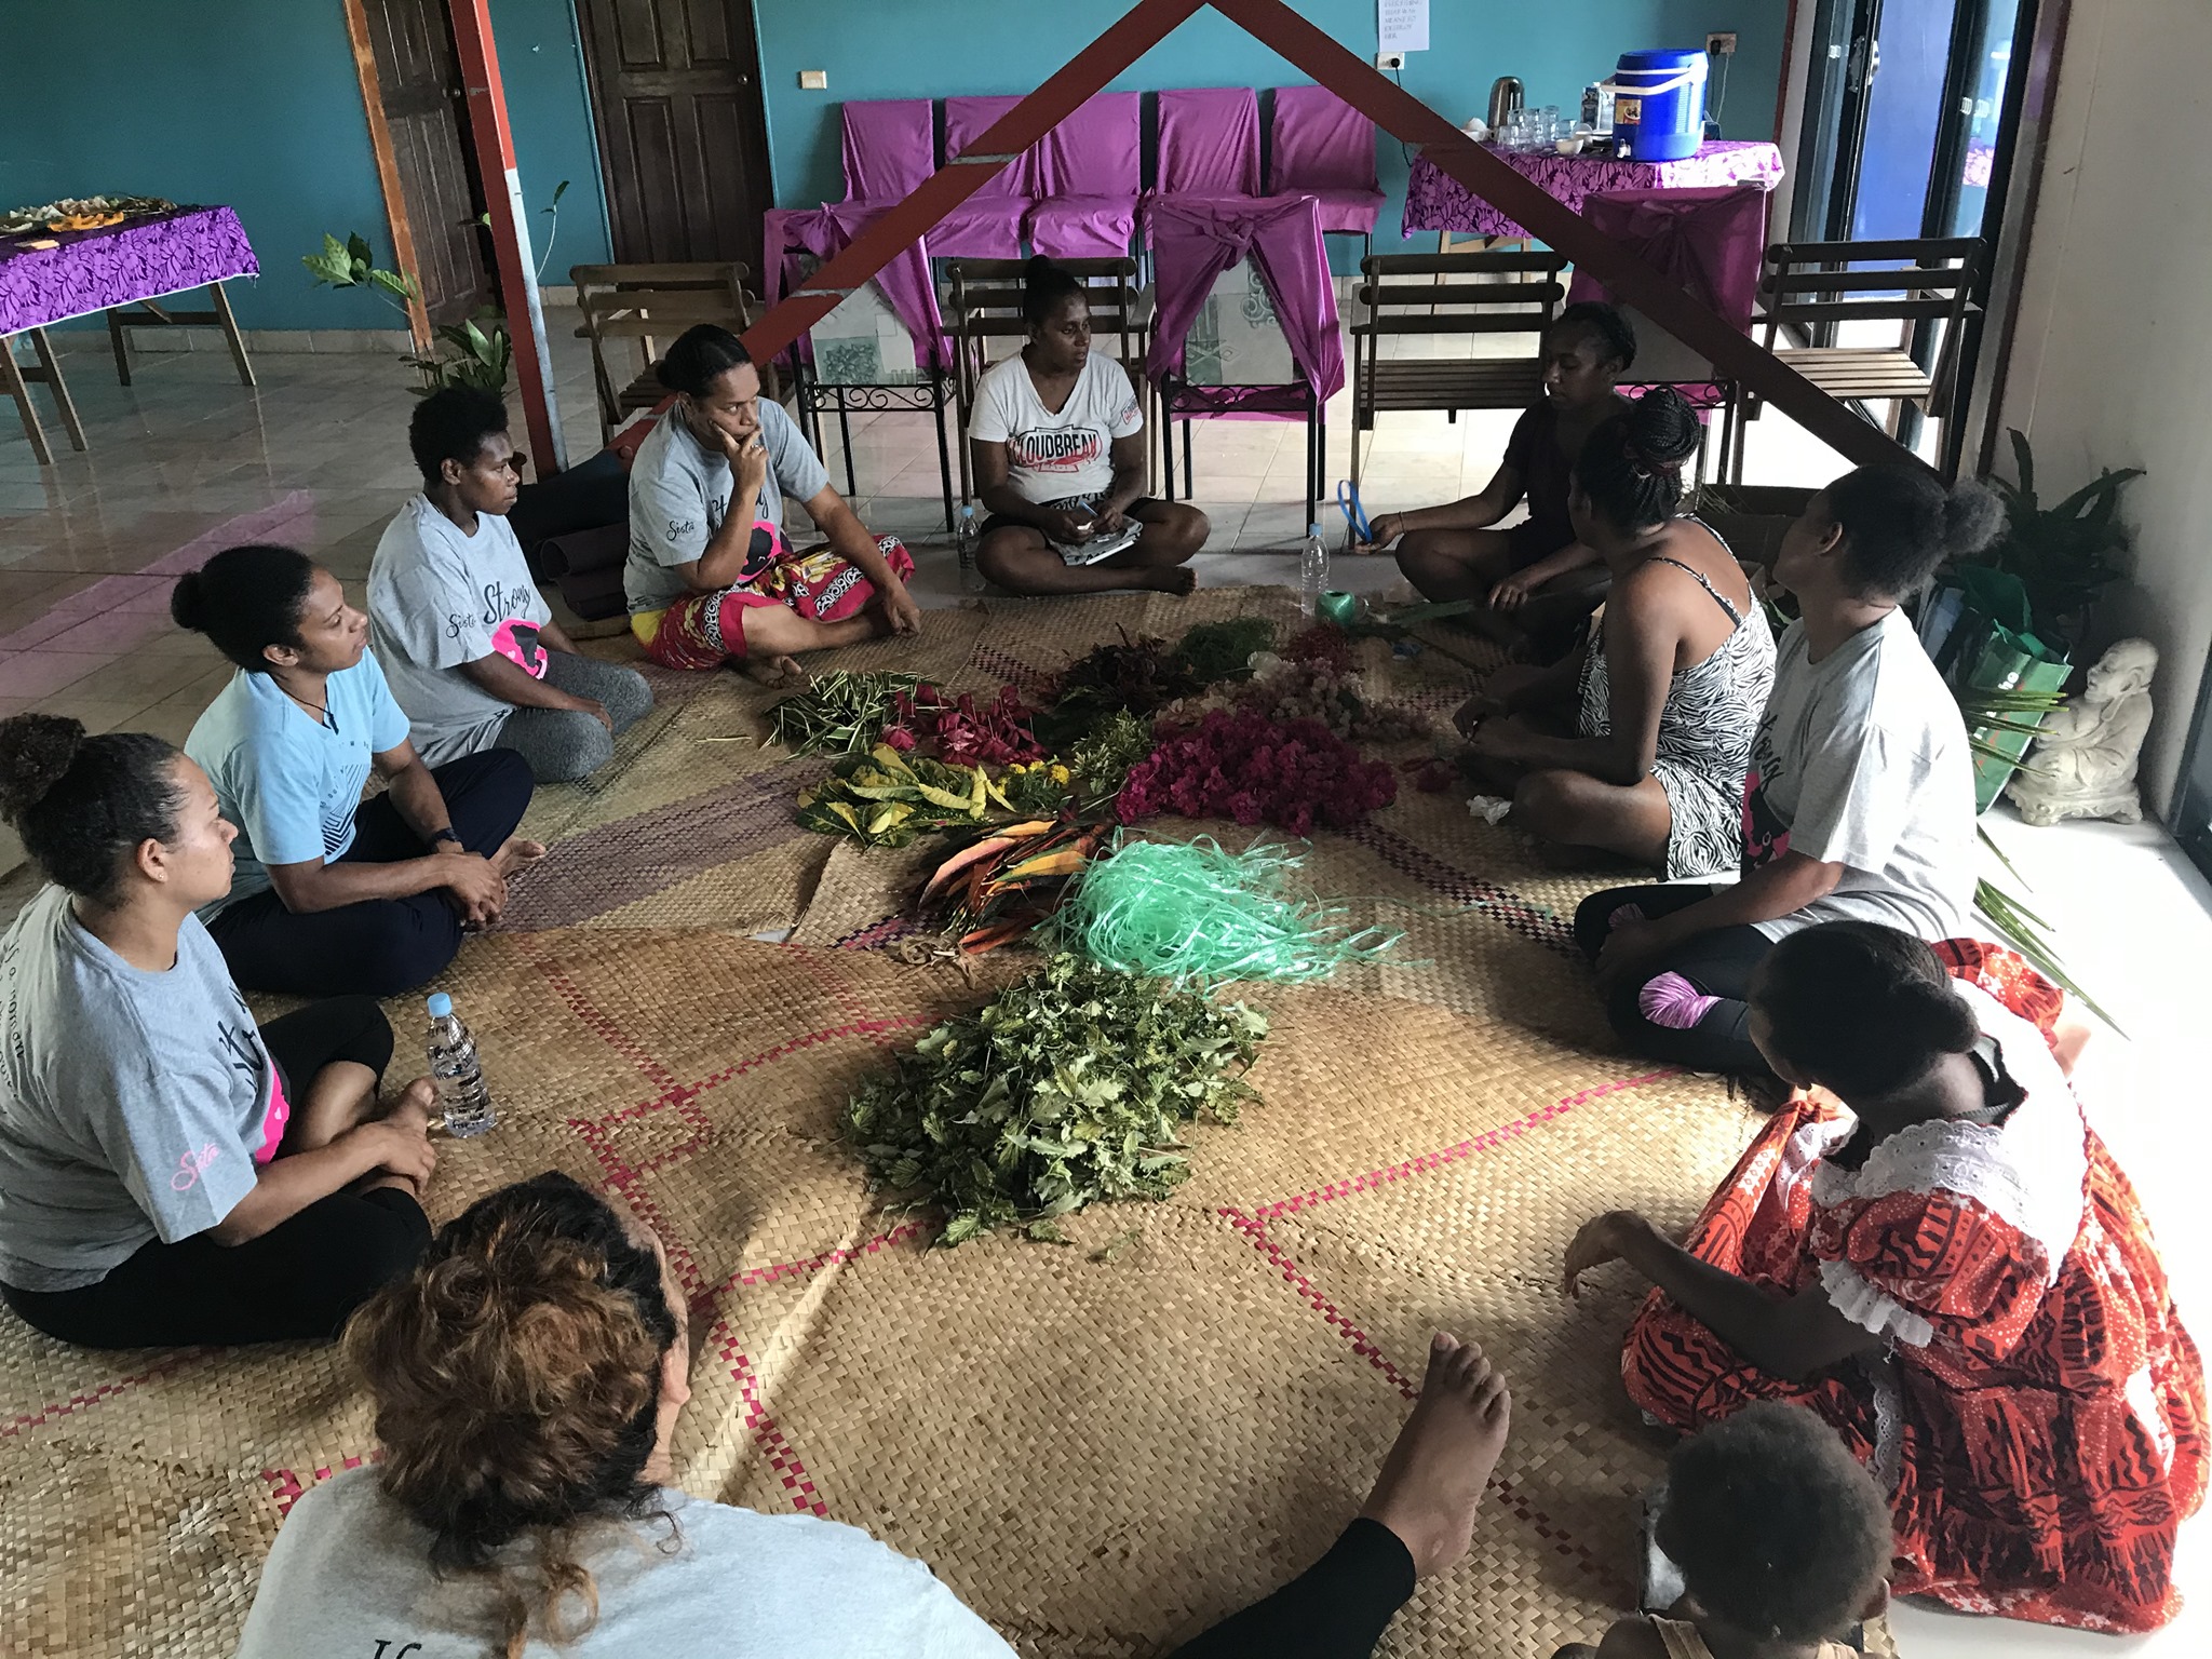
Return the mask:
<path id="1" fill-rule="evenodd" d="M 1146 93 L 1099 93 L 1018 155 L 929 232 L 938 259 L 1117 259 L 1133 250 L 1146 206 L 1161 197 L 1259 199 L 1310 195 L 1323 234 L 1371 243 L 1383 186 L 1374 122 L 1325 86 L 1270 95 L 1267 148 L 1250 86 L 1197 86 L 1155 100 L 1155 168 L 1144 179 Z M 1020 97 L 947 97 L 942 161 L 978 153 Z M 936 106 L 927 97 L 843 106 L 845 201 L 889 206 L 938 170 Z"/>

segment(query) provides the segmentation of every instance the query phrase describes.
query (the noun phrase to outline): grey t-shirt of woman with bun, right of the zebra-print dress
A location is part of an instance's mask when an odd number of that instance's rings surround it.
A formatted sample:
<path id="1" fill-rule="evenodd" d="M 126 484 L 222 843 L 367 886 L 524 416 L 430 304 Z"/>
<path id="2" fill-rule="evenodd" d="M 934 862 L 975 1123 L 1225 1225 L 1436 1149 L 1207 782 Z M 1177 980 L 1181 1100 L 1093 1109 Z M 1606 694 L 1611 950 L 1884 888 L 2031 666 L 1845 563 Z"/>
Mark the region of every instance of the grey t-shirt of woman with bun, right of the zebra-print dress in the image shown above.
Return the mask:
<path id="1" fill-rule="evenodd" d="M 1743 869 L 1801 852 L 1845 872 L 1827 898 L 1759 931 L 1865 920 L 1953 938 L 1973 907 L 1973 838 L 1966 721 L 1905 613 L 1818 664 L 1792 622 L 1743 781 Z"/>

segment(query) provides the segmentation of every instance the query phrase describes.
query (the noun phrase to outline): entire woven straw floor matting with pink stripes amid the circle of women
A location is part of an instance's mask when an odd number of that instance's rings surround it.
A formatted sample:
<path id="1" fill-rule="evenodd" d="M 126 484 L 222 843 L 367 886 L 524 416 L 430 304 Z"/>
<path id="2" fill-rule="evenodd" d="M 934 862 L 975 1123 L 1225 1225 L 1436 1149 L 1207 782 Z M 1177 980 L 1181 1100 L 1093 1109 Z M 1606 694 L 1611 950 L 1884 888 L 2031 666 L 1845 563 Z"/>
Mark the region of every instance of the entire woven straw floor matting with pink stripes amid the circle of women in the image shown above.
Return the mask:
<path id="1" fill-rule="evenodd" d="M 922 672 L 1020 684 L 1117 626 L 1283 595 L 1159 606 L 931 613 Z M 1376 672 L 1460 684 L 1422 664 Z M 542 794 L 555 856 L 442 982 L 502 1126 L 447 1148 L 434 1212 L 562 1168 L 661 1230 L 697 1298 L 686 1489 L 867 1526 L 1024 1652 L 1157 1652 L 1327 1544 L 1444 1325 L 1511 1374 L 1513 1442 L 1471 1559 L 1387 1650 L 1548 1652 L 1628 1606 L 1661 1449 L 1617 1383 L 1626 1285 L 1568 1303 L 1559 1256 L 1601 1208 L 1688 1221 L 1750 1126 L 1717 1084 L 1604 1051 L 1564 938 L 1588 883 L 1455 796 L 1325 836 L 1316 889 L 1407 945 L 1327 989 L 1248 989 L 1274 1018 L 1263 1102 L 1194 1130 L 1194 1179 L 1077 1217 L 1068 1245 L 929 1250 L 867 1197 L 836 1113 L 1024 962 L 867 949 L 898 936 L 900 860 L 790 827 L 812 763 L 703 741 L 757 737 L 759 692 L 668 679 L 611 779 Z M 799 931 L 741 938 L 765 927 Z M 0 1318 L 0 1646 L 228 1652 L 290 1502 L 372 1449 L 330 1349 L 88 1354 Z"/>

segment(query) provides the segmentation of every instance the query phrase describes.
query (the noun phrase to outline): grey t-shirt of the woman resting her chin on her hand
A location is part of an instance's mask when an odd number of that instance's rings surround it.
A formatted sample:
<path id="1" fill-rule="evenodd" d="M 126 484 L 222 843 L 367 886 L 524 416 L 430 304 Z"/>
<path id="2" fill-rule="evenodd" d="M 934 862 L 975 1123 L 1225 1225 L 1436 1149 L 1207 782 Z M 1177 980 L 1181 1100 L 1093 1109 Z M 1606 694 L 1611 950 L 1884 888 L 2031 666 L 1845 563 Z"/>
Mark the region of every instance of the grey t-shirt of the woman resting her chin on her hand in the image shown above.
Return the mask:
<path id="1" fill-rule="evenodd" d="M 785 498 L 810 502 L 830 487 L 830 473 L 799 422 L 768 398 L 761 398 L 761 447 L 768 451 L 768 478 L 754 509 L 752 557 L 739 584 L 768 568 L 774 549 L 768 526 L 783 524 Z M 730 458 L 692 438 L 684 405 L 670 405 L 630 462 L 630 557 L 622 566 L 622 591 L 633 613 L 666 611 L 690 593 L 677 566 L 706 557 L 734 493 Z"/>

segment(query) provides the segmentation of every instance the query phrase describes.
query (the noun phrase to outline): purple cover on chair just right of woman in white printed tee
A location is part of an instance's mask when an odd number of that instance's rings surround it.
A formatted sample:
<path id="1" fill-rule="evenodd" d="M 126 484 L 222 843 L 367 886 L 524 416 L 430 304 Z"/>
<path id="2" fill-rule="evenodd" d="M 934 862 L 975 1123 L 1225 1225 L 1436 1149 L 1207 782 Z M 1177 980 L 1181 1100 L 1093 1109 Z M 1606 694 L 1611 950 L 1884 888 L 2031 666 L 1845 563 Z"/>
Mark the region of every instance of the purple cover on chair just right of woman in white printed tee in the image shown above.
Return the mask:
<path id="1" fill-rule="evenodd" d="M 1155 380 L 1183 374 L 1190 325 L 1214 279 L 1248 257 L 1274 301 L 1292 361 L 1314 396 L 1327 400 L 1345 385 L 1345 343 L 1336 330 L 1336 283 L 1321 248 L 1321 208 L 1305 195 L 1159 197 L 1152 204 L 1159 314 L 1146 374 Z"/>

